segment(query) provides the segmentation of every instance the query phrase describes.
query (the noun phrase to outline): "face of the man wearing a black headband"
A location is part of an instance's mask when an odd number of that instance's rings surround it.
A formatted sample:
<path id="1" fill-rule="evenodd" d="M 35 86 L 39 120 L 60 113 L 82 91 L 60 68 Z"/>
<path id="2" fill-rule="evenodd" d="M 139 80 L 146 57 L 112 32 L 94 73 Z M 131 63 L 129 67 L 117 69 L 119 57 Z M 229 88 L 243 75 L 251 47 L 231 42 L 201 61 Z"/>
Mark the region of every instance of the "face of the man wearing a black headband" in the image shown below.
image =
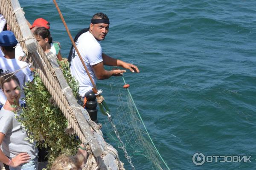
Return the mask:
<path id="1" fill-rule="evenodd" d="M 104 40 L 106 35 L 108 34 L 109 24 L 92 24 L 90 23 L 90 32 L 93 34 L 97 40 Z"/>

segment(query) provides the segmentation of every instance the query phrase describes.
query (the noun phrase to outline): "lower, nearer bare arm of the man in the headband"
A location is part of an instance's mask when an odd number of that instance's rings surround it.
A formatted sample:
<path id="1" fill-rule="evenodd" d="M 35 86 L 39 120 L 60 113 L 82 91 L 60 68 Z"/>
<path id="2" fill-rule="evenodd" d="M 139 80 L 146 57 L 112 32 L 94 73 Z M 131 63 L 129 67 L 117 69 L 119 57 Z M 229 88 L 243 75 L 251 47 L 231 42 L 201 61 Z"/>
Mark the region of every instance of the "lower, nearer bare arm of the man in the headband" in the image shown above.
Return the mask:
<path id="1" fill-rule="evenodd" d="M 111 76 L 122 76 L 122 73 L 126 72 L 125 70 L 119 69 L 111 71 L 105 70 L 103 62 L 99 62 L 98 64 L 93 65 L 92 68 L 97 79 L 108 79 Z"/>

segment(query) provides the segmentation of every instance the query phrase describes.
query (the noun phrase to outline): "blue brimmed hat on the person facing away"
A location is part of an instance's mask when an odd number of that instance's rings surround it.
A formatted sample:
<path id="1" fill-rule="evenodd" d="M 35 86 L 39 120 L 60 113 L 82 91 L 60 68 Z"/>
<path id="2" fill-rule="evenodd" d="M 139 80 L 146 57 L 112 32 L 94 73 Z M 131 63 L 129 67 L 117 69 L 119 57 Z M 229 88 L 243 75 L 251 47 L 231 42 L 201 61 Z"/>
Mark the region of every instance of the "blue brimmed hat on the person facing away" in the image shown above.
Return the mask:
<path id="1" fill-rule="evenodd" d="M 0 33 L 0 46 L 14 46 L 17 45 L 17 43 L 18 41 L 12 31 L 2 31 Z"/>

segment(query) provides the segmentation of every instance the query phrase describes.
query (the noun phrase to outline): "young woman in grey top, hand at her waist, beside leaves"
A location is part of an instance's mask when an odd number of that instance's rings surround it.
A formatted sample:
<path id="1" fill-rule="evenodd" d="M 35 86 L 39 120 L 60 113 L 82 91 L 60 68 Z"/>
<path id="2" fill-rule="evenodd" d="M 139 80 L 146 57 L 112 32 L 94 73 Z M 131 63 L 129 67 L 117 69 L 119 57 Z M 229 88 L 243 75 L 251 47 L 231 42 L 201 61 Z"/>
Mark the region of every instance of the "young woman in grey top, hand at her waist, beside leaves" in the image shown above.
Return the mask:
<path id="1" fill-rule="evenodd" d="M 15 119 L 15 116 L 19 116 L 20 113 L 19 80 L 13 74 L 2 74 L 0 88 L 7 98 L 0 110 L 0 161 L 9 165 L 10 170 L 37 170 L 38 150 L 35 143 L 24 140 L 28 137 L 26 130 Z M 17 107 L 14 108 L 12 105 Z"/>

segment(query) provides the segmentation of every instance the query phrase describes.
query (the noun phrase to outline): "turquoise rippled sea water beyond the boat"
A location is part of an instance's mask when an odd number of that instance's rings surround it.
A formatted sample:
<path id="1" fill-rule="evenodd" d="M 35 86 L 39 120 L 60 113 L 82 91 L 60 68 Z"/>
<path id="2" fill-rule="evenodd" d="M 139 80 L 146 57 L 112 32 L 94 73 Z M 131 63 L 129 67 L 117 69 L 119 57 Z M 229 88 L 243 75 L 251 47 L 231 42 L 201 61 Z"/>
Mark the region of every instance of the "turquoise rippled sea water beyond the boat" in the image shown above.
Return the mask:
<path id="1" fill-rule="evenodd" d="M 71 43 L 52 1 L 20 0 L 31 23 L 51 22 L 62 56 Z M 102 49 L 132 62 L 140 74 L 125 80 L 157 148 L 171 169 L 241 169 L 256 166 L 256 1 L 59 0 L 73 36 L 104 12 L 110 31 Z M 108 102 L 109 84 L 99 81 Z M 109 96 L 109 97 L 108 97 Z M 99 119 L 103 116 L 99 116 Z M 103 127 L 104 128 L 104 127 Z M 192 156 L 251 156 L 251 162 L 206 162 Z M 119 151 L 122 161 L 125 158 Z M 126 162 L 125 162 L 126 163 Z M 126 168 L 130 169 L 126 163 Z M 139 165 L 143 168 L 143 164 Z"/>

